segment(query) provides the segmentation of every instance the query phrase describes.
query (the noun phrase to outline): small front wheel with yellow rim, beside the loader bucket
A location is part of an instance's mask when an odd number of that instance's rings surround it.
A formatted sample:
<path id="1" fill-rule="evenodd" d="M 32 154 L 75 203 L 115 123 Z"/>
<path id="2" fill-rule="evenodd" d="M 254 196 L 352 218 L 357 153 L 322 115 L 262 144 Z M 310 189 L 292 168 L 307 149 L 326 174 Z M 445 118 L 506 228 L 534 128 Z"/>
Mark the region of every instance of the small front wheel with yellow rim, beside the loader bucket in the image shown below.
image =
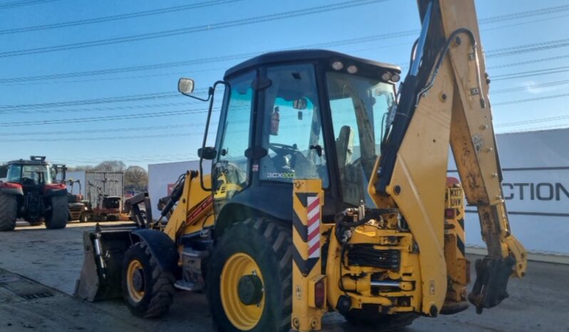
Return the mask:
<path id="1" fill-rule="evenodd" d="M 133 315 L 157 318 L 168 312 L 174 296 L 172 273 L 161 271 L 144 242 L 133 244 L 123 261 L 123 298 Z"/>

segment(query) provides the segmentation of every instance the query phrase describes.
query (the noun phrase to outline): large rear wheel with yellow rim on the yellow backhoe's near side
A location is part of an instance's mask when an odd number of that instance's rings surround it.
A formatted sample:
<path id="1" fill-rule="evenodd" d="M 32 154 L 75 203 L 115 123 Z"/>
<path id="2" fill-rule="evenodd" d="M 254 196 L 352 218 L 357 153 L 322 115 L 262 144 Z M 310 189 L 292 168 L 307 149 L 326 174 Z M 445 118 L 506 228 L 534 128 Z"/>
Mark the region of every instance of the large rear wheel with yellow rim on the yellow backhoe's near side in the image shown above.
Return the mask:
<path id="1" fill-rule="evenodd" d="M 268 219 L 227 229 L 207 269 L 207 299 L 221 331 L 289 331 L 292 234 Z"/>

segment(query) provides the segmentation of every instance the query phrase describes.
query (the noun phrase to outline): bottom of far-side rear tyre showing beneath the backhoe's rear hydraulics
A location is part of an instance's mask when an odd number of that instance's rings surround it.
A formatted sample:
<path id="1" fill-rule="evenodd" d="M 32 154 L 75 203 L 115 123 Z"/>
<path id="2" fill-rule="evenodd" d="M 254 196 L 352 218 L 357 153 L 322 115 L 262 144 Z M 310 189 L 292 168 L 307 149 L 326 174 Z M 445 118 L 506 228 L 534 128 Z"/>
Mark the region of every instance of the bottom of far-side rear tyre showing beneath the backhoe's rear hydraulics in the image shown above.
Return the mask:
<path id="1" fill-rule="evenodd" d="M 346 321 L 352 326 L 373 327 L 376 331 L 390 331 L 411 325 L 419 317 L 416 313 L 396 313 L 387 315 L 379 313 L 377 306 L 352 309 L 344 314 Z"/>

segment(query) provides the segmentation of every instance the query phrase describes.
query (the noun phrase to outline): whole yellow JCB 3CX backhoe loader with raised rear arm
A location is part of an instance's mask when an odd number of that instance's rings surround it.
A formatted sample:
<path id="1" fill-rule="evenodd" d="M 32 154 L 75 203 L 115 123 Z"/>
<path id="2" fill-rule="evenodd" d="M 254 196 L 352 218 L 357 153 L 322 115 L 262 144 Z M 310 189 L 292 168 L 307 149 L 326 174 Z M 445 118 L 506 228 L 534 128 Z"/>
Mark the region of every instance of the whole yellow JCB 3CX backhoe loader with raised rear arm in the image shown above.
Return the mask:
<path id="1" fill-rule="evenodd" d="M 463 311 L 467 299 L 479 313 L 499 304 L 526 252 L 502 197 L 473 0 L 420 0 L 419 11 L 399 92 L 397 66 L 331 51 L 230 68 L 205 100 L 198 154 L 211 175 L 180 177 L 167 222 L 149 206 L 141 218 L 140 196 L 134 224 L 87 232 L 77 296 L 122 295 L 135 315 L 157 317 L 175 288 L 205 289 L 222 331 L 317 331 L 327 311 L 384 328 Z M 178 88 L 189 95 L 193 81 Z M 446 177 L 449 144 L 461 183 Z M 488 245 L 468 295 L 463 194 Z"/>

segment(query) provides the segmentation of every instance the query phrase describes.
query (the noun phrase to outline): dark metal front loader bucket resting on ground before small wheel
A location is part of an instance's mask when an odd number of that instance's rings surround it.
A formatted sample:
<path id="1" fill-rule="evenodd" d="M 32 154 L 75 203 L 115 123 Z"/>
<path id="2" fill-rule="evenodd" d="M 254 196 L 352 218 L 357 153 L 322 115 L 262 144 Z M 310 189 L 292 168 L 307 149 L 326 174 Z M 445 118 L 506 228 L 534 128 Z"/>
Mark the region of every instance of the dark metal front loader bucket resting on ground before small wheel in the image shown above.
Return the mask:
<path id="1" fill-rule="evenodd" d="M 122 296 L 121 270 L 133 229 L 136 227 L 130 225 L 108 229 L 97 225 L 95 231 L 83 232 L 83 269 L 73 296 L 87 301 Z"/>

